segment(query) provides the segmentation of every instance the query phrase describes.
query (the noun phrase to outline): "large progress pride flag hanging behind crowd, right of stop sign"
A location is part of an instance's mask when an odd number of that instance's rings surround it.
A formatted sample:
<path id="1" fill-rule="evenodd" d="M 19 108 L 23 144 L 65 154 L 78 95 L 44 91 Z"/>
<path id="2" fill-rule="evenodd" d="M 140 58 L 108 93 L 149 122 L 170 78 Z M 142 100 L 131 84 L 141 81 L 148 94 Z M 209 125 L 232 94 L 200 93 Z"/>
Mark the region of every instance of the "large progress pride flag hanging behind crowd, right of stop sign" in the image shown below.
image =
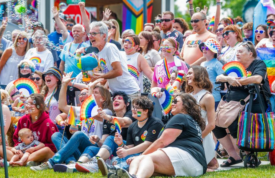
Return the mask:
<path id="1" fill-rule="evenodd" d="M 147 1 L 147 23 L 151 23 L 153 0 Z M 133 29 L 135 34 L 143 31 L 143 0 L 122 0 L 122 31 Z"/>

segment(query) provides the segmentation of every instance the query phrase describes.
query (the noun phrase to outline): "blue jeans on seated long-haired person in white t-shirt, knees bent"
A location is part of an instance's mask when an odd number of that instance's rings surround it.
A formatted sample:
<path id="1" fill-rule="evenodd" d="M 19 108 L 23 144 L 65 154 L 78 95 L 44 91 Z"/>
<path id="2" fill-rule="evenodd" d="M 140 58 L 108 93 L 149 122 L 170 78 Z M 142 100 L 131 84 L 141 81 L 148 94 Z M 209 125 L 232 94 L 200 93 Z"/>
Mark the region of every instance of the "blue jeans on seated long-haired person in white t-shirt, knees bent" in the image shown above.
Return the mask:
<path id="1" fill-rule="evenodd" d="M 75 132 L 70 140 L 63 137 L 61 149 L 59 149 L 61 138 L 62 133 L 60 132 L 55 132 L 52 135 L 52 142 L 54 143 L 58 152 L 48 160 L 51 165 L 60 164 L 63 161 L 68 164 L 70 161 L 76 161 L 80 156 L 87 156 L 89 159 L 91 159 L 92 157 L 89 156 L 89 149 L 86 148 L 89 146 L 97 147 L 97 145 L 93 145 L 89 141 L 87 135 L 81 131 Z M 81 155 L 81 153 L 83 154 Z"/>

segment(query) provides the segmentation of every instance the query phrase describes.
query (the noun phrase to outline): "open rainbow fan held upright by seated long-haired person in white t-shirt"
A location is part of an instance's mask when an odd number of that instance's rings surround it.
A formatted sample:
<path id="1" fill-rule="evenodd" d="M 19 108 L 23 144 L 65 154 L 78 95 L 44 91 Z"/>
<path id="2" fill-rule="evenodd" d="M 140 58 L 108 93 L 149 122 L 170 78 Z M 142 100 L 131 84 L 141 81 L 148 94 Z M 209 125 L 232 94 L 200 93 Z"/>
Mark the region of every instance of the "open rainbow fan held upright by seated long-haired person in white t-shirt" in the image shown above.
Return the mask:
<path id="1" fill-rule="evenodd" d="M 89 96 L 86 98 L 80 108 L 80 120 L 85 120 L 90 117 L 97 115 L 97 102 L 95 101 L 94 95 Z"/>

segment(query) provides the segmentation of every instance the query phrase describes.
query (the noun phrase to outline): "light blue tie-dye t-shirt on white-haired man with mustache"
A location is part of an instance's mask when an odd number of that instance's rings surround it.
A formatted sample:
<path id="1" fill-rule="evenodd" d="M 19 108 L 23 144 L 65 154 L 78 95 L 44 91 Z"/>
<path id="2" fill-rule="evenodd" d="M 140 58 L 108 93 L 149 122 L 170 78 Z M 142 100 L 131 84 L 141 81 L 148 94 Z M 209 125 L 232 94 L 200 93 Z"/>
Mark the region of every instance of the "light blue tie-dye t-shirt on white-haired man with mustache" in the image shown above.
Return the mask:
<path id="1" fill-rule="evenodd" d="M 66 43 L 65 45 L 64 45 L 64 48 L 63 48 L 63 51 L 66 51 L 66 52 L 68 52 L 69 51 L 69 48 L 70 48 L 70 44 L 71 43 Z M 78 45 L 79 45 L 80 43 L 73 43 L 72 42 L 72 46 L 71 46 L 71 48 L 70 48 L 70 53 L 71 54 L 74 54 L 74 52 L 76 51 L 76 48 L 78 47 Z M 81 47 L 87 47 L 87 46 L 89 46 L 87 43 L 85 43 L 85 42 L 83 42 L 80 46 L 79 46 L 79 48 L 81 48 Z M 62 60 L 62 61 L 64 61 L 65 62 L 65 72 L 66 73 L 68 73 L 68 72 L 74 72 L 73 74 L 72 74 L 72 77 L 76 77 L 77 76 L 77 74 L 79 74 L 80 73 L 80 69 L 76 66 L 76 63 L 77 63 L 77 61 L 76 61 L 76 59 L 75 58 L 73 58 L 73 57 L 70 57 L 68 54 L 64 54 L 64 52 L 61 52 L 61 54 L 60 54 L 60 59 Z M 75 55 L 75 54 L 74 54 Z"/>

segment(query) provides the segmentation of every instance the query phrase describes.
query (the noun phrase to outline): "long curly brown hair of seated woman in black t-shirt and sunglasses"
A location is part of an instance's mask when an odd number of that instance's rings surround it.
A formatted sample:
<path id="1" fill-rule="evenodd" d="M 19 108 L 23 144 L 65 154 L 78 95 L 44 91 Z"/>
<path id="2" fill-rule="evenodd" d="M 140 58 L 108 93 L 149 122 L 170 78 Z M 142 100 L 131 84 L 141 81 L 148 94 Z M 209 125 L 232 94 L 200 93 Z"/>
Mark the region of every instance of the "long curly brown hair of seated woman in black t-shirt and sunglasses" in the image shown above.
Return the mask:
<path id="1" fill-rule="evenodd" d="M 187 93 L 180 93 L 175 96 L 182 100 L 183 112 L 192 116 L 192 118 L 199 124 L 201 131 L 205 129 L 205 120 L 201 117 L 201 106 L 193 96 Z"/>

